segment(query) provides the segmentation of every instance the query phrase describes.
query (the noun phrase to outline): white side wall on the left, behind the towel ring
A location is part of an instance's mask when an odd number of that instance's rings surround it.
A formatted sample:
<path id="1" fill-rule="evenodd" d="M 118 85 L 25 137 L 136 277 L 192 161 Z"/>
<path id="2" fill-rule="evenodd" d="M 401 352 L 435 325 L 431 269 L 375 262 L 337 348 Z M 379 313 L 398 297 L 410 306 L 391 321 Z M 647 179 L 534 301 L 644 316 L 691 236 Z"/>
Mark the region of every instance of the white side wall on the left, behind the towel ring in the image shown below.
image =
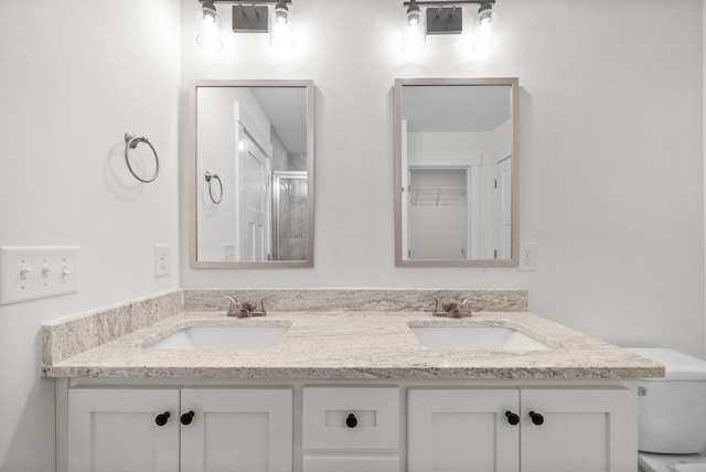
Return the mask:
<path id="1" fill-rule="evenodd" d="M 42 322 L 179 287 L 179 14 L 172 0 L 0 2 L 0 246 L 79 246 L 78 293 L 0 307 L 2 471 L 54 470 Z M 156 182 L 129 176 L 127 130 L 157 148 Z M 153 276 L 156 243 L 170 277 Z"/>

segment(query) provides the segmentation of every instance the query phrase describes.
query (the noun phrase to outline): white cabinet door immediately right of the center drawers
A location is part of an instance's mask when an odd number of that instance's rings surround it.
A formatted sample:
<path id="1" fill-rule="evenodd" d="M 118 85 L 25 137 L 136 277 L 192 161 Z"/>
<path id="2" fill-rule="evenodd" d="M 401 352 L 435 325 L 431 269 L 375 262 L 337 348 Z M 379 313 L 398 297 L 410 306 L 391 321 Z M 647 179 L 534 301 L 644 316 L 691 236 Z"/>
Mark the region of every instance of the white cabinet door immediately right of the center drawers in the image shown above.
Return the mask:
<path id="1" fill-rule="evenodd" d="M 515 389 L 410 389 L 408 470 L 457 472 L 520 470 Z"/>

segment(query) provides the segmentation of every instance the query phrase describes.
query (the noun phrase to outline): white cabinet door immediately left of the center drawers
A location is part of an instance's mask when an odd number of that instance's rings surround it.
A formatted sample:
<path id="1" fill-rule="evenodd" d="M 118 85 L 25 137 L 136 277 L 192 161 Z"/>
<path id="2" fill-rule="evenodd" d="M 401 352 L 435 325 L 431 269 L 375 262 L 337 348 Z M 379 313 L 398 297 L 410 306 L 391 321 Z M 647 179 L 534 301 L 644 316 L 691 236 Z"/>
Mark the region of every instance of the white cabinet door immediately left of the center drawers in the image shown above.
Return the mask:
<path id="1" fill-rule="evenodd" d="M 292 470 L 290 389 L 182 389 L 182 472 Z"/>

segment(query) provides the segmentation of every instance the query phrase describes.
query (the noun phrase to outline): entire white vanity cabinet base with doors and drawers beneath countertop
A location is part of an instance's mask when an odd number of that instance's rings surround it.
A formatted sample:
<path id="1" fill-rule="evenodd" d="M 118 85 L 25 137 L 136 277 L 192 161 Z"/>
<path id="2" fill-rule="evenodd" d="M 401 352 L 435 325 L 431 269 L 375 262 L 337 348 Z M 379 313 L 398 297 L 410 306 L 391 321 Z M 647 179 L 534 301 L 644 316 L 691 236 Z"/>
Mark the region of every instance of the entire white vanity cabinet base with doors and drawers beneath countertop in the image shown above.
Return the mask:
<path id="1" fill-rule="evenodd" d="M 83 378 L 61 385 L 58 472 L 638 469 L 632 379 Z"/>

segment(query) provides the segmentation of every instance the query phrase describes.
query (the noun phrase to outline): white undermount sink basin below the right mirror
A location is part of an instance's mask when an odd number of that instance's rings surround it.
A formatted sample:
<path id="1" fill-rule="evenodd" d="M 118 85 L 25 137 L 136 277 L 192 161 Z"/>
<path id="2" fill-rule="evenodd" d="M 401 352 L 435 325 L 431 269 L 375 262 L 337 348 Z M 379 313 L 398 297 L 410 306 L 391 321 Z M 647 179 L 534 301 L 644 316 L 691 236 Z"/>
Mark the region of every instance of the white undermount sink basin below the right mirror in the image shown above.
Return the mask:
<path id="1" fill-rule="evenodd" d="M 426 346 L 441 350 L 546 351 L 544 343 L 506 326 L 410 326 Z"/>

